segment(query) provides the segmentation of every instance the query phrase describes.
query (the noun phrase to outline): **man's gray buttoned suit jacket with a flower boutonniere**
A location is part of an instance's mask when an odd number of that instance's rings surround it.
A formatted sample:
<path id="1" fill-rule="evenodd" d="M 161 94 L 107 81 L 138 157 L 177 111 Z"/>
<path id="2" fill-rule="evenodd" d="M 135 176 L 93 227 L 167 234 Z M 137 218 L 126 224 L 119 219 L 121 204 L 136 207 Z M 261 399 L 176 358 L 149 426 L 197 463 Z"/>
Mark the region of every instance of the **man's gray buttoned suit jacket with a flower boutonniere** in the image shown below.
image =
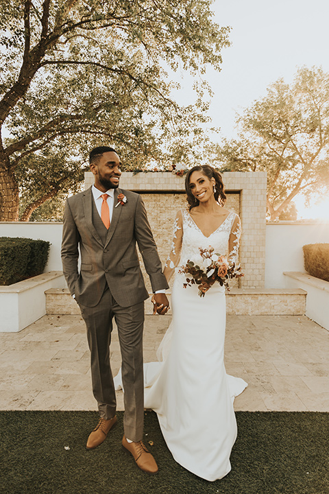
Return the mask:
<path id="1" fill-rule="evenodd" d="M 115 207 L 121 192 L 127 202 Z M 115 189 L 110 228 L 102 234 L 101 228 L 105 227 L 101 223 L 99 228 L 95 222 L 101 220 L 91 187 L 66 201 L 62 264 L 66 283 L 78 303 L 95 307 L 106 283 L 121 307 L 129 307 L 148 298 L 136 244 L 143 257 L 152 290 L 156 292 L 168 287 L 141 196 Z M 79 254 L 80 272 L 77 268 Z"/>

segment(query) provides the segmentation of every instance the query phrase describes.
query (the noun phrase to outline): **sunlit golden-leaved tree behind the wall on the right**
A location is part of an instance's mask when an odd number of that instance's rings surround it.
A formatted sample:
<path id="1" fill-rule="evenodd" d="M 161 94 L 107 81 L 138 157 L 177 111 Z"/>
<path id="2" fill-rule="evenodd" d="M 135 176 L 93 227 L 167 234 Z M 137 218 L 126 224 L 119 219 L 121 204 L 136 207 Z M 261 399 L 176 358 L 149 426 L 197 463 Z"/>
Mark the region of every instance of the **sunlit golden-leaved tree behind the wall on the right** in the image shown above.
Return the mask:
<path id="1" fill-rule="evenodd" d="M 239 139 L 215 149 L 222 169 L 267 172 L 271 220 L 298 193 L 329 191 L 329 74 L 302 67 L 293 84 L 279 79 L 237 120 Z"/>

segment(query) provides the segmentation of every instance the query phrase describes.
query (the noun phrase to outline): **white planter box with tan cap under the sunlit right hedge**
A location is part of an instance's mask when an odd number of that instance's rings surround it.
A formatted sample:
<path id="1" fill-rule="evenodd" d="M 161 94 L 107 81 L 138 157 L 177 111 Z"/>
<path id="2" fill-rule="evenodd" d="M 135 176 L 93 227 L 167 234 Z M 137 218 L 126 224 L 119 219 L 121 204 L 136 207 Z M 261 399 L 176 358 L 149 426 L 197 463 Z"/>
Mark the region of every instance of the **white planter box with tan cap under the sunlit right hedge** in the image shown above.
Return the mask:
<path id="1" fill-rule="evenodd" d="M 306 295 L 306 316 L 329 330 L 329 281 L 302 272 L 284 272 L 286 286 L 302 288 Z"/>

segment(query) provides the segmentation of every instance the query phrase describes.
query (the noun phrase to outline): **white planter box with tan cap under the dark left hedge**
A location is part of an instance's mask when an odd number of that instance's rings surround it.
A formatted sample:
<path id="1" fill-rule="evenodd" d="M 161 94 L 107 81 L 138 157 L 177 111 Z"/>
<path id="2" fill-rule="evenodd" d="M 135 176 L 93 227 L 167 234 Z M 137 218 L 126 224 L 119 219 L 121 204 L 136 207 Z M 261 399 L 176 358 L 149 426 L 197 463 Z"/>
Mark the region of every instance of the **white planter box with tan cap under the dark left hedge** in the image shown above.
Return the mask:
<path id="1" fill-rule="evenodd" d="M 0 332 L 21 331 L 44 316 L 45 291 L 64 285 L 62 271 L 51 271 L 9 286 L 0 286 Z"/>

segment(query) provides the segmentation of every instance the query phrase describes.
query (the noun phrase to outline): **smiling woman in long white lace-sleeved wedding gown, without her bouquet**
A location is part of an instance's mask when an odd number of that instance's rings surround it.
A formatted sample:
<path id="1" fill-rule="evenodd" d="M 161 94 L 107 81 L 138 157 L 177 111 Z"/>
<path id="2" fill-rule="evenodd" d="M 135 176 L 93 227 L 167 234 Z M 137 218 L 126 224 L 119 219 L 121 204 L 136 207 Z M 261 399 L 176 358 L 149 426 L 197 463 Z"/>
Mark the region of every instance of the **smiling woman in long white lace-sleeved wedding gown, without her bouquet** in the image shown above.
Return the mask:
<path id="1" fill-rule="evenodd" d="M 175 270 L 195 260 L 199 248 L 210 246 L 237 261 L 239 216 L 223 207 L 221 174 L 208 165 L 188 171 L 188 211 L 178 211 L 173 245 L 164 275 L 174 271 L 173 319 L 158 349 L 160 362 L 145 364 L 145 408 L 154 410 L 173 458 L 206 480 L 230 471 L 236 440 L 233 399 L 247 386 L 226 374 L 223 362 L 226 327 L 225 289 L 215 283 L 204 297 L 198 285 L 184 287 L 186 277 Z M 119 384 L 117 381 L 117 388 Z"/>

